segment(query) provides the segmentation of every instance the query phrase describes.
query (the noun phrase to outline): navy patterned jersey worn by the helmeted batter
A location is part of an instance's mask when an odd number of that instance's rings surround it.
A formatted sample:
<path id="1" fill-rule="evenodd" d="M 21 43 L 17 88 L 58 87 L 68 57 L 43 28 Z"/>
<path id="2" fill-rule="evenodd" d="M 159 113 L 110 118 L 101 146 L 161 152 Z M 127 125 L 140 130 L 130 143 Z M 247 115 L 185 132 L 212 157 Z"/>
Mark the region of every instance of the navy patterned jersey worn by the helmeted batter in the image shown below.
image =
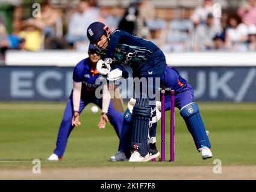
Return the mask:
<path id="1" fill-rule="evenodd" d="M 121 65 L 130 64 L 132 68 L 139 68 L 158 50 L 151 41 L 116 29 L 108 42 L 105 58 L 111 58 L 113 62 Z"/>

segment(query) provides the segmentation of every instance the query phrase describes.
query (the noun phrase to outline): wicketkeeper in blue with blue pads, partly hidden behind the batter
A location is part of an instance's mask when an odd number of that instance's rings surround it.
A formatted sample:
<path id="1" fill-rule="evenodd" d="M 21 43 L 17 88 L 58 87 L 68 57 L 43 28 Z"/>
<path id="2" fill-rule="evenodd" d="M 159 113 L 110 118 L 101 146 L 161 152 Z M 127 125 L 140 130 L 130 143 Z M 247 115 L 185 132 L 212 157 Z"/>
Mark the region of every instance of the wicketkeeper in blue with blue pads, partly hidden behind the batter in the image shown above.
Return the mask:
<path id="1" fill-rule="evenodd" d="M 165 68 L 164 75 L 161 77 L 161 86 L 175 90 L 175 107 L 180 110 L 180 114 L 186 122 L 188 130 L 190 134 L 192 134 L 196 149 L 201 152 L 202 158 L 206 159 L 213 157 L 210 150 L 211 143 L 205 131 L 204 122 L 202 121 L 199 113 L 198 104 L 193 102 L 194 92 L 192 86 L 187 83 L 187 81 L 180 76 L 178 71 L 172 67 Z M 126 109 L 123 115 L 123 127 L 120 137 L 119 151 L 116 155 L 110 157 L 111 161 L 125 161 L 128 160 L 131 155 L 129 146 L 131 143 L 132 128 L 130 127 L 130 121 L 131 116 L 133 115 L 133 107 L 131 107 L 130 103 L 128 104 L 128 109 Z M 161 109 L 161 107 L 158 108 Z M 165 110 L 170 110 L 170 95 L 166 95 Z M 160 118 L 158 118 L 158 120 L 159 119 Z M 155 122 L 149 128 L 149 145 L 151 150 L 151 154 L 149 156 L 150 160 L 160 155 L 155 145 L 156 129 L 157 123 Z"/>

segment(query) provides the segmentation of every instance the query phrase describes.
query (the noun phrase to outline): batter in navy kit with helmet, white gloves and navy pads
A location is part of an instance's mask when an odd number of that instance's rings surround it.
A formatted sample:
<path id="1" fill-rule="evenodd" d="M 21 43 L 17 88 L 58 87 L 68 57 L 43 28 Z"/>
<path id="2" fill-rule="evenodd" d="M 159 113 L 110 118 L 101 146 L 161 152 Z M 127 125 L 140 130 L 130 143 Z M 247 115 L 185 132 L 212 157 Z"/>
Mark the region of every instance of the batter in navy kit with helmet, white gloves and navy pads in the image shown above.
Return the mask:
<path id="1" fill-rule="evenodd" d="M 111 32 L 110 28 L 101 22 L 92 23 L 87 29 L 87 37 L 90 43 L 105 54 L 103 60 L 99 60 L 97 70 L 108 80 L 117 80 L 122 77 L 122 70 L 114 69 L 114 65 L 129 64 L 133 69 L 133 77 L 146 78 L 147 90 L 155 89 L 157 85 L 150 85 L 148 79 L 161 78 L 166 66 L 163 52 L 151 41 L 128 34 L 116 29 Z M 160 82 L 159 82 L 160 84 Z M 159 85 L 160 86 L 160 85 Z M 133 151 L 130 160 L 142 162 L 149 160 L 148 132 L 151 110 L 155 103 L 149 101 L 148 92 L 139 91 L 139 98 L 133 107 L 133 127 L 130 149 Z M 152 98 L 151 98 L 152 100 Z"/>

